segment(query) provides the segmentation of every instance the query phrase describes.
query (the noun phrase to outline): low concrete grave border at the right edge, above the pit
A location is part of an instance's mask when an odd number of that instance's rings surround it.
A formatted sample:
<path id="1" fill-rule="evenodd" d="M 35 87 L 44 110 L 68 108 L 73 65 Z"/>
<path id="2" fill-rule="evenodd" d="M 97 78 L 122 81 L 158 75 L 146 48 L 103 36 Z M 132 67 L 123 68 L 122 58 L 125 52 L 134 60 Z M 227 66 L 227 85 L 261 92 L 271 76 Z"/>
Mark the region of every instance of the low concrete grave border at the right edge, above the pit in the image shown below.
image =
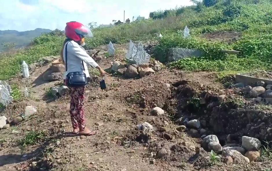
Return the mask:
<path id="1" fill-rule="evenodd" d="M 264 71 L 264 70 L 259 70 L 259 71 Z M 252 72 L 247 72 L 247 73 L 259 72 L 259 71 L 252 71 Z M 236 82 L 244 83 L 245 85 L 249 85 L 251 83 L 257 83 L 258 81 L 264 81 L 267 84 L 272 84 L 271 79 L 256 78 L 256 77 L 252 77 L 252 76 L 243 75 L 243 74 L 247 74 L 247 73 L 236 74 Z"/>

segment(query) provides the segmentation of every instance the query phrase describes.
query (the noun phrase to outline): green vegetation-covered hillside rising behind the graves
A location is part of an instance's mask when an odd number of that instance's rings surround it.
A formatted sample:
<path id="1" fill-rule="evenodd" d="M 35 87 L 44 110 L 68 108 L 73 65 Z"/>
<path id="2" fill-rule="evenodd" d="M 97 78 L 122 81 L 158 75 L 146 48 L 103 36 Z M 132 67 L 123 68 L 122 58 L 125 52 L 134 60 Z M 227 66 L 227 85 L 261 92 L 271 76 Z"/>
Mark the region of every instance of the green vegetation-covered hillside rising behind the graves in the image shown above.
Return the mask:
<path id="1" fill-rule="evenodd" d="M 150 13 L 150 19 L 93 29 L 94 38 L 86 48 L 102 44 L 128 43 L 129 40 L 163 38 L 155 49 L 155 57 L 166 61 L 171 47 L 200 49 L 202 57 L 172 62 L 169 67 L 194 71 L 217 71 L 225 75 L 239 71 L 271 69 L 272 64 L 272 0 L 204 0 L 196 5 Z M 191 30 L 191 38 L 183 38 L 180 30 Z M 224 41 L 229 36 L 228 41 Z M 237 36 L 238 35 L 238 36 Z M 51 32 L 35 38 L 32 46 L 14 55 L 5 54 L 0 63 L 0 79 L 20 72 L 20 63 L 38 61 L 43 56 L 58 55 L 63 34 Z M 222 40 L 223 41 L 222 41 Z M 231 41 L 229 41 L 231 40 Z M 242 51 L 242 56 L 220 53 L 220 49 Z M 6 59 L 8 58 L 8 59 Z"/>

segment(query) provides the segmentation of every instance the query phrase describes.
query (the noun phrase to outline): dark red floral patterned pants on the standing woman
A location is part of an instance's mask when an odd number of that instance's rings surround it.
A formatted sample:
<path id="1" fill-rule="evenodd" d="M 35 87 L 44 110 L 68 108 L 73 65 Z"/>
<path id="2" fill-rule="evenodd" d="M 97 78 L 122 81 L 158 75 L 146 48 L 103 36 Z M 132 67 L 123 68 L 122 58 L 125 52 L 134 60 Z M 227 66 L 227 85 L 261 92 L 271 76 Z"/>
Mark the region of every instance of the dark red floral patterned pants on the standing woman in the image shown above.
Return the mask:
<path id="1" fill-rule="evenodd" d="M 71 103 L 70 116 L 73 129 L 85 129 L 84 117 L 84 87 L 70 87 L 71 89 Z"/>

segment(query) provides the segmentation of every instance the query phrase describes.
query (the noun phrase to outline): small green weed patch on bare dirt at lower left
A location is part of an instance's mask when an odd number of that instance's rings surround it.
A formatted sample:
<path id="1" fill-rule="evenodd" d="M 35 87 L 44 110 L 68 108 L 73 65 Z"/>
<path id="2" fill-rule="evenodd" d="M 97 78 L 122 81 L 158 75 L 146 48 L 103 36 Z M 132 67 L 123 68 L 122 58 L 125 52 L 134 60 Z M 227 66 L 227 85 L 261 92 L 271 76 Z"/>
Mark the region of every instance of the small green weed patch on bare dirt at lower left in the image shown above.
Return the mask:
<path id="1" fill-rule="evenodd" d="M 45 138 L 45 133 L 43 131 L 30 131 L 27 132 L 25 137 L 19 141 L 19 144 L 22 146 L 27 145 L 34 145 L 38 143 L 39 141 L 43 140 Z"/>

